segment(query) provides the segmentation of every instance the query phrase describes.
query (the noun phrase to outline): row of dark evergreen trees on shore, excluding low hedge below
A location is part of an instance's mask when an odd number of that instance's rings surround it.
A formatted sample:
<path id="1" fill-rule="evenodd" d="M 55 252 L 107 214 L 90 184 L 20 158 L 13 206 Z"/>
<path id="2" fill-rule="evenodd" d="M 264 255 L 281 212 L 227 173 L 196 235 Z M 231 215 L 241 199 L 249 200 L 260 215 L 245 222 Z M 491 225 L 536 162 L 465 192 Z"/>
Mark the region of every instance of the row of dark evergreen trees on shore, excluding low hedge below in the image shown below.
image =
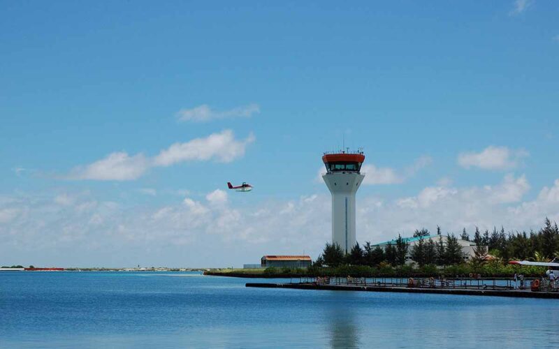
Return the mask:
<path id="1" fill-rule="evenodd" d="M 549 261 L 559 258 L 559 229 L 549 218 L 544 221 L 544 227 L 537 232 L 509 232 L 504 228 L 493 228 L 492 232 L 480 232 L 475 229 L 472 238 L 463 229 L 459 238 L 454 234 L 447 234 L 443 239 L 440 227 L 437 226 L 437 236 L 430 237 L 426 229 L 416 230 L 414 237 L 419 240 L 409 248 L 406 240 L 398 235 L 393 243 L 389 242 L 384 248 L 365 242 L 363 247 L 359 243 L 344 253 L 337 244 L 326 243 L 323 253 L 314 262 L 315 267 L 338 267 L 340 265 L 366 265 L 377 267 L 382 263 L 394 267 L 405 265 L 407 256 L 423 267 L 425 265 L 449 266 L 464 262 L 464 255 L 458 239 L 471 241 L 475 244 L 474 256 L 471 263 L 484 263 L 488 257 L 508 262 L 512 259 Z M 408 253 L 409 252 L 409 253 Z"/>

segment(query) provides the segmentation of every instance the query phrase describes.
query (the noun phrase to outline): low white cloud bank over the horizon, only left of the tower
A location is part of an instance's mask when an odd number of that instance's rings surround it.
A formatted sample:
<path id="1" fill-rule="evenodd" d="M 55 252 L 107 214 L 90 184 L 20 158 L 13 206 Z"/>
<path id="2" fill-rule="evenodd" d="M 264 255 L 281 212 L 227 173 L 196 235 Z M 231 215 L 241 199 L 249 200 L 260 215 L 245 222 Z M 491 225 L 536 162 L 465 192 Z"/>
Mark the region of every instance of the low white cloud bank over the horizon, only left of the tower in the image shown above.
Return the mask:
<path id="1" fill-rule="evenodd" d="M 33 256 L 36 264 L 47 265 L 99 265 L 100 260 L 104 265 L 239 265 L 263 253 L 303 253 L 293 247 L 312 246 L 313 240 L 321 246 L 330 235 L 324 218 L 329 200 L 290 200 L 292 209 L 279 214 L 284 202 L 239 207 L 226 195 L 218 189 L 205 200 L 185 198 L 155 208 L 89 197 L 62 207 L 54 195 L 24 195 L 0 202 L 0 255 L 16 262 Z"/>

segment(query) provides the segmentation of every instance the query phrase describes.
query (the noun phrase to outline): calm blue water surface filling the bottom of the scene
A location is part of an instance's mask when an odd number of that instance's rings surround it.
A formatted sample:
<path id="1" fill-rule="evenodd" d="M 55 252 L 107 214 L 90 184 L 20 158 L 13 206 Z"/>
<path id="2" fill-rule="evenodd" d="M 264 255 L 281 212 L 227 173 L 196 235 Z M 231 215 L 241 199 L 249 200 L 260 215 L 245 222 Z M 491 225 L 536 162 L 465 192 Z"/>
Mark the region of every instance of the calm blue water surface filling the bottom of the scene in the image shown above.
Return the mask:
<path id="1" fill-rule="evenodd" d="M 259 289 L 246 282 L 267 281 L 1 272 L 0 347 L 559 347 L 559 300 Z"/>

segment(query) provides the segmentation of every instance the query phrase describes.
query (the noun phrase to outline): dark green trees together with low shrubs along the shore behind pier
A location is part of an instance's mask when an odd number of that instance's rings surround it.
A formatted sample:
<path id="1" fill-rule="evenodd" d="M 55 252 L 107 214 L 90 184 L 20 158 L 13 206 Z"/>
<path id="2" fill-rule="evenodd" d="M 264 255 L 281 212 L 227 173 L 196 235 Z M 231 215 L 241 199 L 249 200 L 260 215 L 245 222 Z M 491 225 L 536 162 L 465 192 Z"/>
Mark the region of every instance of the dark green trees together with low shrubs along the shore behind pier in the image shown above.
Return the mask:
<path id="1" fill-rule="evenodd" d="M 414 261 L 405 265 L 409 246 L 398 235 L 394 244 L 384 249 L 365 242 L 363 248 L 357 243 L 344 255 L 337 244 L 326 244 L 324 252 L 307 269 L 307 274 L 314 276 L 510 276 L 521 273 L 525 276 L 541 276 L 546 267 L 526 267 L 509 265 L 509 260 L 535 260 L 549 262 L 559 258 L 559 229 L 548 218 L 544 227 L 538 232 L 509 232 L 504 228 L 493 232 L 481 233 L 476 228 L 474 256 L 464 262 L 464 255 L 458 237 L 448 234 L 446 242 L 442 239 L 440 227 L 437 226 L 438 239 L 423 239 L 430 236 L 428 230 L 414 232 L 414 237 L 421 237 L 409 251 Z M 463 229 L 460 239 L 470 241 L 470 235 Z M 274 271 L 268 272 L 273 274 Z"/>

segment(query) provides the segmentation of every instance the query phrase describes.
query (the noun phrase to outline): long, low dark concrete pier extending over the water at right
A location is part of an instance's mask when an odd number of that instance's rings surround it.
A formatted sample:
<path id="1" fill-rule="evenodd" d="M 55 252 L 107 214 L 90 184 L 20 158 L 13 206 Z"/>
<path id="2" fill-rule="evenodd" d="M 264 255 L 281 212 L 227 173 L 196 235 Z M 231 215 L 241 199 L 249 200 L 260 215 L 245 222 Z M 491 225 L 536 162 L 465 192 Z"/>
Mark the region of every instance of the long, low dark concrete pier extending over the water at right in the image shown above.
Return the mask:
<path id="1" fill-rule="evenodd" d="M 255 288 L 294 288 L 298 290 L 365 291 L 365 292 L 405 292 L 435 293 L 442 295 L 497 296 L 517 298 L 555 298 L 559 292 L 532 292 L 531 290 L 477 290 L 460 288 L 410 288 L 402 286 L 375 285 L 326 285 L 317 283 L 247 283 L 246 287 Z"/>

